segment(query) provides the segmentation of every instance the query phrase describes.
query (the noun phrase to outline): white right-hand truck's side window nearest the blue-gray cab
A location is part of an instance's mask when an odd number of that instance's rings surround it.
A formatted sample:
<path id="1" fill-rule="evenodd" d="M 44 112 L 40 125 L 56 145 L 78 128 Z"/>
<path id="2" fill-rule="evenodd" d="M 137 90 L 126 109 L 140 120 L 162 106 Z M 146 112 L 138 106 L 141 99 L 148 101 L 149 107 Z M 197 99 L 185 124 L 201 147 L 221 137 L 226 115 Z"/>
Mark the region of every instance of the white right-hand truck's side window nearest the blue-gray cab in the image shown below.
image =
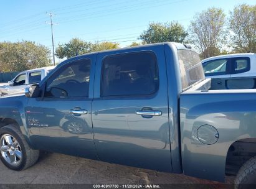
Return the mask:
<path id="1" fill-rule="evenodd" d="M 212 60 L 204 63 L 203 67 L 204 73 L 223 73 L 224 75 L 227 69 L 227 59 Z"/>

